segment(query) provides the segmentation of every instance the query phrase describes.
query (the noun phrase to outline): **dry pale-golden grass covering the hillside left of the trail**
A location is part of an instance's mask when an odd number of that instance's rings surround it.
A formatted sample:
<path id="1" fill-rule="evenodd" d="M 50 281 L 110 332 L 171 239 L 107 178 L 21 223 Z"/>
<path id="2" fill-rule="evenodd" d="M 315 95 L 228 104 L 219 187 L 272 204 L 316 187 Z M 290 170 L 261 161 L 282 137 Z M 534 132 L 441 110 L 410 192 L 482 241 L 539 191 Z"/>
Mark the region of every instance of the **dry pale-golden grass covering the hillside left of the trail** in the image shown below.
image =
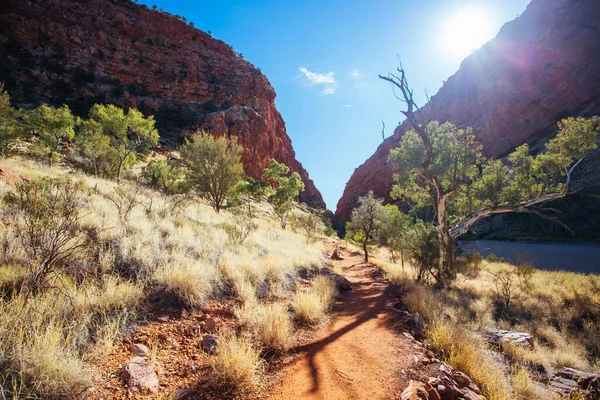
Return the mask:
<path id="1" fill-rule="evenodd" d="M 109 199 L 115 182 L 61 167 L 40 168 L 21 158 L 0 160 L 0 167 L 31 178 L 69 173 L 84 180 L 93 194 L 89 209 L 83 210 L 90 213 L 83 224 L 96 232 L 88 255 L 60 269 L 64 283 L 57 281 L 58 289 L 26 302 L 19 290 L 23 266 L 31 260 L 14 227 L 0 230 L 0 384 L 9 396 L 76 395 L 89 385 L 93 371 L 88 362 L 106 354 L 138 321 L 147 296 L 159 289 L 192 308 L 211 297 L 239 299 L 242 307 L 260 311 L 249 323 L 260 346 L 289 347 L 290 315 L 282 306 L 263 303 L 293 297 L 297 275 L 320 267 L 323 250 L 302 234 L 282 230 L 267 204 L 253 206 L 257 230 L 240 244 L 221 228 L 235 223 L 233 214 L 216 214 L 197 200 L 143 189 L 131 211 L 119 216 Z M 10 190 L 0 182 L 0 196 Z M 222 374 L 216 376 L 228 385 L 256 383 L 261 363 L 255 350 L 234 338 L 224 343 L 215 363 Z M 228 354 L 230 363 L 224 359 Z M 236 375 L 236 370 L 249 376 Z"/>

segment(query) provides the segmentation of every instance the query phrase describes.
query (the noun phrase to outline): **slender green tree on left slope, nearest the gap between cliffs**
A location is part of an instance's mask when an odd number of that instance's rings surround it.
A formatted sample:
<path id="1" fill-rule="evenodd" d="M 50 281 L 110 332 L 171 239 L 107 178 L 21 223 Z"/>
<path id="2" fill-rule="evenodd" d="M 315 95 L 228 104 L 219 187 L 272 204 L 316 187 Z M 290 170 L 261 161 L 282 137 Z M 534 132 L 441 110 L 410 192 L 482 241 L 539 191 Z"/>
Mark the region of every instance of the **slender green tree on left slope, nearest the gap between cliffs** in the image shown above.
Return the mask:
<path id="1" fill-rule="evenodd" d="M 269 166 L 263 171 L 262 179 L 273 182 L 276 185 L 275 190 L 271 191 L 268 201 L 273 207 L 273 211 L 283 229 L 287 226 L 290 212 L 294 208 L 294 202 L 300 192 L 304 191 L 304 182 L 300 174 L 292 172 L 285 164 L 280 164 L 271 159 Z"/>

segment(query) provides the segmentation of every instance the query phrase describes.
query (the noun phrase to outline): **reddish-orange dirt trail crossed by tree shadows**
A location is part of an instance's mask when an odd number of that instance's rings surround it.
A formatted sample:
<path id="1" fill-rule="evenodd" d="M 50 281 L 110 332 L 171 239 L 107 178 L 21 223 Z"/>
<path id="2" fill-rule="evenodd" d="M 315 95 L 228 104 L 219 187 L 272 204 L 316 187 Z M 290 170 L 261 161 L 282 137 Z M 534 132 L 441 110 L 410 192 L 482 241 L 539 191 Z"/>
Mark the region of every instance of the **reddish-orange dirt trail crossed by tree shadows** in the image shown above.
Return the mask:
<path id="1" fill-rule="evenodd" d="M 326 247 L 331 253 L 333 245 Z M 414 348 L 396 329 L 397 288 L 377 278 L 362 256 L 343 254 L 336 263 L 355 289 L 340 296 L 311 342 L 293 350 L 301 355 L 284 371 L 274 399 L 395 399 L 408 384 L 402 375 L 414 363 Z"/>

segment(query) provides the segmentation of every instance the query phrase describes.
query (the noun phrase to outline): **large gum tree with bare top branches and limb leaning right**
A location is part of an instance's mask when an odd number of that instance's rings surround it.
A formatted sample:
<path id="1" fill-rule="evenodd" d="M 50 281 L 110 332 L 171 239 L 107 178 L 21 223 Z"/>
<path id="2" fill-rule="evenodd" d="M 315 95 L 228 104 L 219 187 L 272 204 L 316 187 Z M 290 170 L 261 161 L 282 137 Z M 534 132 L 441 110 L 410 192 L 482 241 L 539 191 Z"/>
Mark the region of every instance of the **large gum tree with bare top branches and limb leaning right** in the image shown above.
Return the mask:
<path id="1" fill-rule="evenodd" d="M 389 161 L 397 170 L 392 197 L 434 210 L 439 241 L 439 283 L 455 276 L 455 241 L 469 226 L 493 214 L 527 212 L 562 224 L 542 205 L 585 188 L 574 182 L 574 171 L 597 147 L 600 118 L 568 118 L 559 133 L 537 156 L 528 145 L 500 160 L 485 160 L 469 128 L 436 121 L 423 122 L 402 68 L 398 75 L 380 76 L 399 89 L 411 129 Z M 421 118 L 418 120 L 417 114 Z M 553 210 L 549 210 L 553 212 Z"/>

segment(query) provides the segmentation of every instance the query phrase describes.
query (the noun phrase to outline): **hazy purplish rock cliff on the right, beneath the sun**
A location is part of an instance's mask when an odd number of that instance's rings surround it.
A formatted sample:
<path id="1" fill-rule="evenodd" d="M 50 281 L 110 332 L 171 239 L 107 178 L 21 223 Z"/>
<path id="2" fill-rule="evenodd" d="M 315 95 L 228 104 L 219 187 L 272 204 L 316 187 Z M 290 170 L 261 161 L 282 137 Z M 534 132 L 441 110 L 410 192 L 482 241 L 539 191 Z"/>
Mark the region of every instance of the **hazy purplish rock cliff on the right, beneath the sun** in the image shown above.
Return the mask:
<path id="1" fill-rule="evenodd" d="M 462 62 L 423 116 L 473 127 L 486 156 L 535 145 L 555 133 L 564 117 L 600 113 L 599 48 L 600 2 L 533 0 Z M 407 123 L 398 126 L 354 171 L 337 204 L 338 221 L 347 220 L 358 197 L 369 190 L 391 200 L 387 156 L 407 129 Z"/>

